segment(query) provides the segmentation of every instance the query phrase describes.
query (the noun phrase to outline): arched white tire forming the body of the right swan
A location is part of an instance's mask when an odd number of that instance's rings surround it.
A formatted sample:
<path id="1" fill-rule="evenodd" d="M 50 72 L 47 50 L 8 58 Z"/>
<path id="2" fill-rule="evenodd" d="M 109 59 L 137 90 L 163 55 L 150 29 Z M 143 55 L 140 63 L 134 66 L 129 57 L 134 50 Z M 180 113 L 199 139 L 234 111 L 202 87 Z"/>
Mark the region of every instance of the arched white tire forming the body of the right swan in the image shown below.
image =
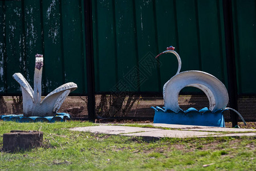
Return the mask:
<path id="1" fill-rule="evenodd" d="M 165 85 L 164 105 L 165 111 L 171 109 L 180 111 L 178 95 L 184 87 L 201 89 L 209 100 L 209 109 L 217 111 L 225 109 L 229 102 L 229 95 L 224 84 L 213 75 L 202 71 L 185 71 L 173 76 Z"/>

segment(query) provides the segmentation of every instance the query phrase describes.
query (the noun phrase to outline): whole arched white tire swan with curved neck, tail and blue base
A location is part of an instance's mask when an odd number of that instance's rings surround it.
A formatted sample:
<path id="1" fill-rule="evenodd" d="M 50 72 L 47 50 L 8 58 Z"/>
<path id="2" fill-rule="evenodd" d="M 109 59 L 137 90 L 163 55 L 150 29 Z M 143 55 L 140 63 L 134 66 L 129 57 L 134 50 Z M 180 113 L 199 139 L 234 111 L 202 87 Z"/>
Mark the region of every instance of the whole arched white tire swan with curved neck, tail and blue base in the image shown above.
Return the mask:
<path id="1" fill-rule="evenodd" d="M 181 58 L 174 47 L 167 47 L 162 54 L 172 53 L 178 60 L 178 71 L 168 82 L 164 84 L 164 108 L 152 107 L 155 109 L 154 123 L 166 124 L 184 124 L 184 125 L 203 125 L 213 127 L 225 127 L 224 116 L 222 112 L 231 109 L 237 113 L 243 123 L 243 117 L 232 108 L 226 108 L 229 102 L 229 95 L 224 84 L 213 75 L 202 71 L 184 71 L 181 70 Z M 204 108 L 197 111 L 190 108 L 182 111 L 178 105 L 178 95 L 184 87 L 196 87 L 201 89 L 209 100 L 209 109 Z M 245 123 L 246 124 L 246 123 Z"/>

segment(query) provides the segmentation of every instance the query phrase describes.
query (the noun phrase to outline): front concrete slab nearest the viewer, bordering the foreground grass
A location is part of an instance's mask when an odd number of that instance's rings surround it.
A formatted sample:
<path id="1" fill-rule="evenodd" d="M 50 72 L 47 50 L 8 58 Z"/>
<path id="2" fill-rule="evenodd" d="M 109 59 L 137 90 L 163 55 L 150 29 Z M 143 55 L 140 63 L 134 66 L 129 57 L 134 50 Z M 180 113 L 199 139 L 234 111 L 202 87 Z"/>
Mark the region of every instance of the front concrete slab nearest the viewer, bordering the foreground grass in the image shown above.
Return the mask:
<path id="1" fill-rule="evenodd" d="M 154 138 L 159 138 L 159 137 L 188 138 L 188 137 L 199 137 L 199 136 L 218 135 L 218 134 L 220 134 L 220 133 L 162 129 L 160 131 L 153 131 L 153 132 L 128 133 L 128 134 L 124 134 L 124 136 L 151 137 L 152 139 L 154 139 Z"/>

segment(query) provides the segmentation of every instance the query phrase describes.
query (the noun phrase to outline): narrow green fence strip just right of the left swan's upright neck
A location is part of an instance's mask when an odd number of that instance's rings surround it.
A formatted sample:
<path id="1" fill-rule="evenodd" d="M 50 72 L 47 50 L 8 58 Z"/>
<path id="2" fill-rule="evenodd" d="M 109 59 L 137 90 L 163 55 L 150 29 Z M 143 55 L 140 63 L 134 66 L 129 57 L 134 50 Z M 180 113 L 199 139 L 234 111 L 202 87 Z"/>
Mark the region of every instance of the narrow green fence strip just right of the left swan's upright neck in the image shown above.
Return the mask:
<path id="1" fill-rule="evenodd" d="M 64 83 L 63 32 L 60 1 L 43 1 L 44 68 L 43 93 L 51 92 Z"/>

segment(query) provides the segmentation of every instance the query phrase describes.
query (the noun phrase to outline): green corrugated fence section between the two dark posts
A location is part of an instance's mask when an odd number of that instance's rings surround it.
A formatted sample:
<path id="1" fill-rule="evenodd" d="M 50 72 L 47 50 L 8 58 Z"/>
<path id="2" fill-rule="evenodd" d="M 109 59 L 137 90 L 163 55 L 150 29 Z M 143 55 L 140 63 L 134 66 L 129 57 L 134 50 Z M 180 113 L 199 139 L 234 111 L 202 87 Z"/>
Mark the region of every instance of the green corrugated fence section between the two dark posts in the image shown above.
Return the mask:
<path id="1" fill-rule="evenodd" d="M 170 45 L 181 56 L 182 71 L 209 72 L 226 83 L 221 2 L 93 2 L 96 91 L 111 91 L 124 82 L 131 91 L 161 92 L 177 71 L 176 58 L 161 56 L 151 71 L 143 59 Z M 132 74 L 140 79 L 137 85 L 131 85 Z"/>

